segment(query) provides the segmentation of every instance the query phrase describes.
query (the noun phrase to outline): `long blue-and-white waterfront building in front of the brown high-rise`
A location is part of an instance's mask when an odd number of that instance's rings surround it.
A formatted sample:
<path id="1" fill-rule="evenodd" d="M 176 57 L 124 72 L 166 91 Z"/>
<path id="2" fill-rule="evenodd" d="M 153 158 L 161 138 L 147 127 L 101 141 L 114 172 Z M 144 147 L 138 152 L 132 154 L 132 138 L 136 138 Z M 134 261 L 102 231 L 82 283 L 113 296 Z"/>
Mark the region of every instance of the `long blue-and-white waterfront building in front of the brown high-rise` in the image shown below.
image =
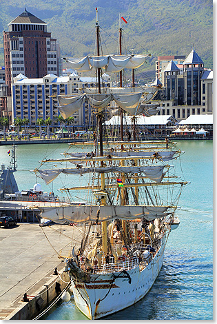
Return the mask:
<path id="1" fill-rule="evenodd" d="M 101 80 L 102 84 L 110 86 L 110 81 Z M 23 74 L 14 77 L 12 84 L 12 114 L 13 120 L 17 117 L 30 121 L 31 126 L 37 125 L 37 119 L 52 119 L 55 125 L 56 117 L 59 116 L 57 94 L 70 95 L 83 93 L 83 88 L 96 87 L 96 79 L 91 77 L 79 77 L 76 73 L 68 77 L 56 77 L 47 74 L 39 79 L 30 79 Z M 72 114 L 73 125 L 82 128 L 92 125 L 94 119 L 90 113 L 90 107 L 84 103 L 83 108 Z"/>

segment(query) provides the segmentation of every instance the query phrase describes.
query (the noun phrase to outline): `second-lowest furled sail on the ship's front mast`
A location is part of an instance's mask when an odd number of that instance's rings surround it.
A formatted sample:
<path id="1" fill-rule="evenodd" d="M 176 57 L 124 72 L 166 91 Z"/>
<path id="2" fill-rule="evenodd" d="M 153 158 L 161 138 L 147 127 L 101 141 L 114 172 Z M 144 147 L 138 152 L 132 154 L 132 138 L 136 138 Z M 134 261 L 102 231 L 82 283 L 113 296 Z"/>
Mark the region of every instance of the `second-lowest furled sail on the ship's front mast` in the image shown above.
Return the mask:
<path id="1" fill-rule="evenodd" d="M 130 166 L 130 167 L 117 167 L 117 166 L 110 166 L 105 168 L 62 168 L 62 169 L 46 169 L 46 170 L 39 170 L 42 179 L 48 185 L 54 179 L 56 179 L 59 174 L 85 174 L 90 172 L 99 172 L 99 173 L 108 173 L 108 172 L 123 172 L 126 174 L 129 173 L 143 173 L 147 178 L 161 182 L 163 179 L 163 168 L 164 166 Z"/>

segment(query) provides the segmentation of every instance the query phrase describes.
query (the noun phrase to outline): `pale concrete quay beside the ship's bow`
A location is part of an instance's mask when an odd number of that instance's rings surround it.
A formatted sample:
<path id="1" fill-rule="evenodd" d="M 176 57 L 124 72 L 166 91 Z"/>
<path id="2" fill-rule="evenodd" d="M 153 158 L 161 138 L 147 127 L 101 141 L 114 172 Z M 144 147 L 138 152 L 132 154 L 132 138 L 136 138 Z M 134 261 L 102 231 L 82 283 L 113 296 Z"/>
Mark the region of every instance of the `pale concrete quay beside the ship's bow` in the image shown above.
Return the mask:
<path id="1" fill-rule="evenodd" d="M 69 256 L 82 236 L 70 225 L 0 227 L 0 320 L 32 319 L 58 296 L 56 285 L 63 290 L 69 281 L 58 253 Z M 55 267 L 61 276 L 53 274 Z M 21 301 L 25 293 L 29 302 Z"/>

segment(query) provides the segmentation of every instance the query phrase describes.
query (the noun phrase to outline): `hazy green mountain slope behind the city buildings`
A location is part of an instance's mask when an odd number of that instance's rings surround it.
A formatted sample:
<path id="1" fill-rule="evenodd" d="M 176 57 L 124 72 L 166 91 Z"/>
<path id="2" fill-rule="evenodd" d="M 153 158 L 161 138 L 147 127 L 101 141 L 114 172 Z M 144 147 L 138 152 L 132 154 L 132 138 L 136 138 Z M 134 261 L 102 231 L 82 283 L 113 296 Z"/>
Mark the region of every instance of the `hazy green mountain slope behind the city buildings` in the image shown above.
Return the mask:
<path id="1" fill-rule="evenodd" d="M 127 20 L 127 24 L 122 23 L 123 47 L 134 49 L 134 54 L 152 54 L 138 74 L 143 72 L 145 76 L 145 71 L 155 70 L 158 56 L 187 55 L 193 46 L 205 68 L 212 68 L 211 0 L 1 0 L 0 26 L 1 30 L 8 30 L 8 23 L 26 8 L 48 23 L 48 31 L 60 43 L 61 56 L 81 56 L 95 50 L 96 7 L 103 54 L 118 53 L 119 12 Z M 1 34 L 0 65 L 3 64 Z"/>

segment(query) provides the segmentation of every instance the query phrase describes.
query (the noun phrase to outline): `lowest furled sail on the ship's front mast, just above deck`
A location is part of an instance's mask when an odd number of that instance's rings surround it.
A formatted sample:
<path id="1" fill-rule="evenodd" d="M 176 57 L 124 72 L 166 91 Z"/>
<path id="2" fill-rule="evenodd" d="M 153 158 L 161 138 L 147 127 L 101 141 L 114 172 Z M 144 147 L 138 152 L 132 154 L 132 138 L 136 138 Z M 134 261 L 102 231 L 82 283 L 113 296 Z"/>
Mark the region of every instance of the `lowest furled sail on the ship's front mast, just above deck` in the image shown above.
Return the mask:
<path id="1" fill-rule="evenodd" d="M 70 221 L 74 223 L 85 223 L 87 221 L 96 221 L 96 214 L 99 212 L 99 221 L 110 221 L 112 219 L 141 219 L 145 217 L 148 221 L 156 218 L 167 216 L 165 213 L 169 206 L 152 206 L 152 205 L 68 205 L 63 207 L 39 207 L 40 216 L 43 219 L 50 219 L 55 223 Z"/>

